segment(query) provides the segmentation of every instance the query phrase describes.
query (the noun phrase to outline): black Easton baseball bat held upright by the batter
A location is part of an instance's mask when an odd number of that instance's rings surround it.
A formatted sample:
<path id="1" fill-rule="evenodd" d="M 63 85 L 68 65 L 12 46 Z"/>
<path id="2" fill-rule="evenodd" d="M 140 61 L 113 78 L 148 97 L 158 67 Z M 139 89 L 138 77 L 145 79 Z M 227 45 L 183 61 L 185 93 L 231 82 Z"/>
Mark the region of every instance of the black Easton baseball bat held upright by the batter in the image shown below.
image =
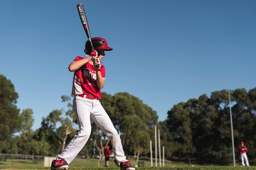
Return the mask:
<path id="1" fill-rule="evenodd" d="M 92 42 L 91 42 L 91 35 L 90 35 L 90 31 L 89 31 L 89 27 L 88 27 L 88 22 L 87 22 L 87 17 L 86 17 L 86 14 L 84 12 L 84 9 L 83 9 L 83 4 L 77 4 L 77 10 L 78 10 L 78 13 L 79 13 L 79 16 L 80 16 L 80 20 L 82 22 L 82 25 L 83 25 L 83 28 L 84 28 L 84 31 L 87 35 L 87 38 L 91 44 L 91 49 L 94 50 L 94 47 L 92 45 Z M 99 64 L 97 65 L 97 71 L 101 70 L 101 68 L 99 68 Z"/>

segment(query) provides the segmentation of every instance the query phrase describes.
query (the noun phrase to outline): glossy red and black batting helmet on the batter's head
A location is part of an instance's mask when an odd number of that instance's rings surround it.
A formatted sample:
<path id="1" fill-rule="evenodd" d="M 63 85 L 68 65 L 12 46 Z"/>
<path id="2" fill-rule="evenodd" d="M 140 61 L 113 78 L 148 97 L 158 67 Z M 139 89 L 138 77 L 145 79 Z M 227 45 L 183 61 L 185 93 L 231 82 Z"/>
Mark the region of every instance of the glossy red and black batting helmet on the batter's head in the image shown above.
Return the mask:
<path id="1" fill-rule="evenodd" d="M 110 48 L 108 46 L 108 43 L 104 38 L 100 38 L 100 37 L 91 38 L 91 42 L 92 42 L 92 45 L 93 45 L 94 49 L 98 51 L 98 55 L 100 55 L 100 50 L 99 49 L 104 49 L 105 51 L 113 50 L 113 48 Z M 91 43 L 88 40 L 85 43 L 84 52 L 89 55 L 89 54 L 91 54 L 91 50 L 92 50 Z"/>

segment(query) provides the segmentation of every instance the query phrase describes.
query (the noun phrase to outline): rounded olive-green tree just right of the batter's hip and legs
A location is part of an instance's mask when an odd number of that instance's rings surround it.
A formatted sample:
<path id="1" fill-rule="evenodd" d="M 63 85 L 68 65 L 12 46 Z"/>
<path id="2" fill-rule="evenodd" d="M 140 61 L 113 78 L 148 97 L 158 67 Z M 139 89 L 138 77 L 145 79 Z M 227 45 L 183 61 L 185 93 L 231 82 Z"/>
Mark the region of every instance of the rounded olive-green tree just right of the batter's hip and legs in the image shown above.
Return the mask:
<path id="1" fill-rule="evenodd" d="M 121 136 L 126 155 L 138 158 L 147 153 L 150 129 L 157 125 L 157 112 L 129 93 L 102 93 L 101 102 Z"/>

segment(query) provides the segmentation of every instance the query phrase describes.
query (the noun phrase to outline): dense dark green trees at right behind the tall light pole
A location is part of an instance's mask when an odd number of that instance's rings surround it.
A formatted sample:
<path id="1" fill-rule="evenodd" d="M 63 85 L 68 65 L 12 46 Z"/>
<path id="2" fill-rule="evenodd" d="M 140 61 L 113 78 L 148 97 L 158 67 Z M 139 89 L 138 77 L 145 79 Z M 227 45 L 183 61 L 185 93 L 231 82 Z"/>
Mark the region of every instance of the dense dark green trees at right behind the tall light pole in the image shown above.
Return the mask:
<path id="1" fill-rule="evenodd" d="M 241 141 L 246 142 L 250 148 L 249 157 L 255 153 L 255 91 L 256 88 L 247 93 L 242 88 L 230 93 L 235 146 Z M 187 103 L 178 103 L 167 114 L 166 123 L 173 143 L 181 145 L 173 155 L 181 152 L 187 158 L 232 158 L 229 94 L 226 90 L 212 92 L 210 98 L 203 94 Z M 238 154 L 236 152 L 237 157 Z"/>

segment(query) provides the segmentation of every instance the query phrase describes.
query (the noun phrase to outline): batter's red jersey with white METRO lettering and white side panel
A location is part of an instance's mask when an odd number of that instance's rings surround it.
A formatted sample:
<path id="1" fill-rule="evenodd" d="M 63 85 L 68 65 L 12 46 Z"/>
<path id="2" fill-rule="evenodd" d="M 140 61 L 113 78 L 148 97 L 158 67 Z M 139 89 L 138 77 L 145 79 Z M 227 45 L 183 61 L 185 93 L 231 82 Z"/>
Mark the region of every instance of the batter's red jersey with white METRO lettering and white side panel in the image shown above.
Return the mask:
<path id="1" fill-rule="evenodd" d="M 74 59 L 74 61 L 78 61 L 83 59 L 78 56 Z M 73 62 L 74 62 L 73 61 Z M 101 65 L 101 76 L 105 78 L 105 67 Z M 94 95 L 98 99 L 101 98 L 101 91 L 96 83 L 96 71 L 94 70 L 94 66 L 87 62 L 82 67 L 77 69 L 74 72 L 73 86 L 72 86 L 72 94 L 73 95 Z"/>

